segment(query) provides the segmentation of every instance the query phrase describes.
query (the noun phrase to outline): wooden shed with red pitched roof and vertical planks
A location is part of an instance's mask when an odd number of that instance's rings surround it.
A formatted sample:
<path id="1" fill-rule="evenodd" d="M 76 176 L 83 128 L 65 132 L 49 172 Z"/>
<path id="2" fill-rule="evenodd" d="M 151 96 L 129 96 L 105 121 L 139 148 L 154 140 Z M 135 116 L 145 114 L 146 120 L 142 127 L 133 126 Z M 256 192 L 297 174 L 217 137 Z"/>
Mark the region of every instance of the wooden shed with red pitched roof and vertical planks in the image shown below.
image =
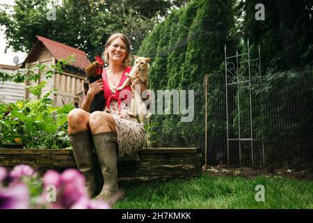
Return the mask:
<path id="1" fill-rule="evenodd" d="M 65 66 L 63 75 L 55 72 L 52 78 L 46 79 L 45 72 L 48 70 L 47 68 L 40 72 L 40 79 L 38 79 L 37 84 L 43 81 L 47 82 L 46 87 L 42 89 L 42 95 L 53 89 L 58 90 L 58 93 L 51 95 L 51 99 L 54 100 L 54 106 L 63 106 L 72 103 L 75 107 L 81 107 L 83 79 L 85 77 L 84 68 L 90 64 L 86 53 L 80 49 L 49 40 L 42 36 L 36 37 L 37 40 L 22 63 L 22 68 L 33 68 L 38 64 L 49 66 L 55 64 L 60 59 L 68 59 L 67 56 L 73 55 L 75 61 L 72 61 L 69 66 Z M 32 84 L 34 83 L 29 80 L 26 81 L 26 86 Z M 29 90 L 25 89 L 25 99 L 33 98 L 35 96 Z"/>

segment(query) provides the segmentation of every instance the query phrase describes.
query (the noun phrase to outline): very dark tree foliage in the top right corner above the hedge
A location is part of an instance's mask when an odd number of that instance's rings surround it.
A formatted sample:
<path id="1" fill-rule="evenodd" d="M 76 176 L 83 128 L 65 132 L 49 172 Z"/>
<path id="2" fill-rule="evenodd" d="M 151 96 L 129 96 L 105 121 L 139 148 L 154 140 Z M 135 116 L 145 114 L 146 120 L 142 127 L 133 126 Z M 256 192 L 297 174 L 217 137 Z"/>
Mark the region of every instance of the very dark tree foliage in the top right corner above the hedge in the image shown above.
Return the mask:
<path id="1" fill-rule="evenodd" d="M 263 3 L 265 20 L 255 20 L 255 5 Z M 278 72 L 303 67 L 313 59 L 313 3 L 305 1 L 241 1 L 246 12 L 241 31 L 250 39 L 252 51 L 260 45 L 262 68 Z M 241 13 L 243 10 L 239 10 Z"/>

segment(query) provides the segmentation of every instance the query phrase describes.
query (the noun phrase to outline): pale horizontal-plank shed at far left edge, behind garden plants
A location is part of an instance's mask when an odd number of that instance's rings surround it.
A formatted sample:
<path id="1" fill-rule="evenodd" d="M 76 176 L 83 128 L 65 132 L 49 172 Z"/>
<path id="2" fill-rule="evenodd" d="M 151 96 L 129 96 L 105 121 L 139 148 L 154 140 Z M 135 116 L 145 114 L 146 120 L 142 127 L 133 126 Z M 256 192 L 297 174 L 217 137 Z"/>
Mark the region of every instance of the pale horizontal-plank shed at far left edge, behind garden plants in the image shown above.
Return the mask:
<path id="1" fill-rule="evenodd" d="M 0 69 L 3 72 L 13 73 L 19 70 L 19 66 L 10 66 L 0 64 Z M 20 70 L 21 71 L 21 70 Z M 0 82 L 0 102 L 16 103 L 18 100 L 24 99 L 24 84 L 15 82 Z"/>

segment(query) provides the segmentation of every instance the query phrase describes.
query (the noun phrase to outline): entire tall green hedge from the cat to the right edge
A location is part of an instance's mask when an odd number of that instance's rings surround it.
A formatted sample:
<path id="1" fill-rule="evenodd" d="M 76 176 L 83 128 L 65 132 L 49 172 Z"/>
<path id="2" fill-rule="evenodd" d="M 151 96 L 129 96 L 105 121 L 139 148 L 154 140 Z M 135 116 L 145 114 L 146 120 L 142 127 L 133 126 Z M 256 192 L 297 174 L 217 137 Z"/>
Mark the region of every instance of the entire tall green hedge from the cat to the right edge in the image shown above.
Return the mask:
<path id="1" fill-rule="evenodd" d="M 237 4 L 238 3 L 238 4 Z M 312 65 L 312 26 L 308 25 L 310 4 L 290 3 L 284 7 L 262 1 L 268 8 L 265 21 L 255 20 L 256 1 L 234 2 L 195 0 L 184 8 L 172 10 L 166 19 L 152 30 L 141 45 L 138 55 L 152 57 L 150 89 L 195 89 L 195 118 L 182 123 L 182 115 L 154 114 L 152 141 L 156 146 L 204 146 L 203 77 L 208 83 L 208 146 L 209 162 L 227 161 L 225 64 L 235 49 L 247 52 L 244 39 L 250 38 L 252 59 L 261 46 L 262 82 L 252 90 L 253 137 L 255 163 L 261 167 L 262 146 L 268 167 L 312 167 L 312 66 L 300 72 L 292 68 Z M 281 3 L 281 2 L 280 2 Z M 291 7 L 294 23 L 285 14 Z M 312 7 L 311 7 L 312 8 Z M 240 10 L 239 10 L 240 9 Z M 246 10 L 246 14 L 243 11 Z M 235 11 L 235 12 L 234 12 Z M 298 13 L 302 11 L 302 13 Z M 234 18 L 243 18 L 243 22 Z M 304 21 L 297 26 L 295 21 Z M 279 22 L 278 22 L 279 21 Z M 286 22 L 292 23 L 291 33 L 303 38 L 290 41 Z M 311 22 L 312 23 L 312 22 Z M 294 29 L 296 26 L 296 29 Z M 290 28 L 289 27 L 289 28 Z M 282 35 L 278 35 L 284 31 Z M 280 34 L 280 33 L 279 33 Z M 282 40 L 285 37 L 287 40 Z M 241 40 L 241 42 L 239 41 Z M 241 45 L 243 44 L 243 45 Z M 298 46 L 296 46 L 298 45 Z M 293 49 L 290 52 L 289 49 Z M 297 49 L 297 50 L 296 50 Z M 294 53 L 298 51 L 298 53 Z M 288 52 L 288 53 L 286 53 Z M 294 54 L 293 63 L 289 63 Z M 288 66 L 286 66 L 286 64 Z M 288 71 L 286 71 L 288 70 Z M 286 71 L 286 72 L 285 72 Z M 247 89 L 246 89 L 247 90 Z M 249 91 L 239 91 L 241 106 L 241 137 L 250 137 Z M 228 91 L 230 138 L 238 138 L 239 111 L 236 89 Z M 264 141 L 264 145 L 260 142 Z M 239 164 L 238 145 L 231 145 L 231 164 Z M 245 142 L 243 164 L 251 164 L 251 149 Z"/>

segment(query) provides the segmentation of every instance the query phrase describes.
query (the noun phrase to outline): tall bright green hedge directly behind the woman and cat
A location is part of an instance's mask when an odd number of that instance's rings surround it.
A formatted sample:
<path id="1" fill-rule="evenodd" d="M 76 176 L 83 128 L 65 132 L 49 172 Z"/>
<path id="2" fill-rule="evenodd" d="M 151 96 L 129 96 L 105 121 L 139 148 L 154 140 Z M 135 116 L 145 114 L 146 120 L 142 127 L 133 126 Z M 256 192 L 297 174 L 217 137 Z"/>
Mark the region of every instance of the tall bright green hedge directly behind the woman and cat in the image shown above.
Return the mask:
<path id="1" fill-rule="evenodd" d="M 224 61 L 224 44 L 236 44 L 234 40 L 227 40 L 234 25 L 232 4 L 233 1 L 191 1 L 184 8 L 172 10 L 143 40 L 138 54 L 152 57 L 150 89 L 195 91 L 195 116 L 191 123 L 183 123 L 182 114 L 152 116 L 152 122 L 159 123 L 153 127 L 157 137 L 152 137 L 158 146 L 198 147 L 204 141 L 202 78 L 209 74 L 218 79 L 217 75 L 223 72 L 220 64 Z M 220 85 L 214 87 L 217 89 Z M 222 102 L 214 95 L 210 99 L 209 116 Z M 218 122 L 214 123 L 216 128 L 223 126 L 223 119 Z"/>

